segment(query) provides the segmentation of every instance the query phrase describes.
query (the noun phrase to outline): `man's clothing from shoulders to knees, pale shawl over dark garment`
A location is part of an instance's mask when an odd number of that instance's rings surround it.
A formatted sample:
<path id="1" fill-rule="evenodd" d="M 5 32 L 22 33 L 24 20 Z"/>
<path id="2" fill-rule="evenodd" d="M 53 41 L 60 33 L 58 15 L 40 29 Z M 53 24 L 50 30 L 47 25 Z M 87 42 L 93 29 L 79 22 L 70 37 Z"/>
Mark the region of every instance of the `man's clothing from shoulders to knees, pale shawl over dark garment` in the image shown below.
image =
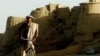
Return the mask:
<path id="1" fill-rule="evenodd" d="M 25 49 L 29 49 L 29 48 L 34 49 L 34 45 L 31 40 L 37 37 L 36 35 L 38 35 L 38 24 L 31 23 L 30 26 L 28 26 L 27 23 L 22 24 L 21 35 L 24 38 L 22 40 L 22 43 Z"/>

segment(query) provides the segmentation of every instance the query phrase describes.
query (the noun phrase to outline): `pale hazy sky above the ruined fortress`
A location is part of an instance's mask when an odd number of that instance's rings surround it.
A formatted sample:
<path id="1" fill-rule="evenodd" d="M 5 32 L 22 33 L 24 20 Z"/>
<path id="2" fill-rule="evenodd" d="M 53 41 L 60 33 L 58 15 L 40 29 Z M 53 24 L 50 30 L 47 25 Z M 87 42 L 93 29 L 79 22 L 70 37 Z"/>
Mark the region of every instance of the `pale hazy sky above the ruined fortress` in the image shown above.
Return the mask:
<path id="1" fill-rule="evenodd" d="M 25 17 L 32 10 L 43 7 L 49 3 L 63 4 L 72 8 L 79 3 L 89 0 L 0 0 L 0 33 L 6 30 L 6 22 L 9 16 Z"/>

